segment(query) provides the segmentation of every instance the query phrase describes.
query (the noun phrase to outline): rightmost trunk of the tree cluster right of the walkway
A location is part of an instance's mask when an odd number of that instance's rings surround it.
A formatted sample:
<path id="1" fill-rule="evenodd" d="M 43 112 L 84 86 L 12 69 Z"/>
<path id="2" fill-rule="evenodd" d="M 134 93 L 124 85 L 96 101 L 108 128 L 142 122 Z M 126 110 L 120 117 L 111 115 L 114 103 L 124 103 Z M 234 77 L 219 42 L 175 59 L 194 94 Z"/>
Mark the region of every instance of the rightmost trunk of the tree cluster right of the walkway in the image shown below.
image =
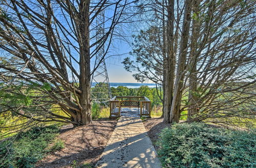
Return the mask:
<path id="1" fill-rule="evenodd" d="M 199 23 L 199 5 L 200 1 L 195 0 L 193 4 L 193 29 L 191 34 L 191 50 L 189 53 L 189 93 L 188 93 L 188 101 L 189 101 L 189 109 L 187 111 L 187 121 L 190 122 L 193 114 L 197 113 L 197 101 L 198 101 L 198 93 L 197 93 L 197 40 L 199 38 L 200 33 L 200 23 Z"/>

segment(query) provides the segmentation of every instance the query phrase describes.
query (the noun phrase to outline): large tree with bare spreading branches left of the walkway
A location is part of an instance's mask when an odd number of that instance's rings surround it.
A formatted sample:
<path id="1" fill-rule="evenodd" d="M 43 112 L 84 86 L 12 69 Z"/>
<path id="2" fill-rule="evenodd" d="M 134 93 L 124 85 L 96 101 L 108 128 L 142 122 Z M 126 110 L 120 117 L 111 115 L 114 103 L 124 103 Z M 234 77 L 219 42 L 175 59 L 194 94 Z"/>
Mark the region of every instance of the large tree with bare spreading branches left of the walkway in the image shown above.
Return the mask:
<path id="1" fill-rule="evenodd" d="M 105 46 L 103 61 L 116 28 L 134 15 L 132 3 L 1 1 L 1 115 L 23 116 L 30 123 L 91 123 L 90 84 L 97 69 L 91 69 L 91 60 Z M 96 24 L 103 10 L 108 19 Z M 101 39 L 97 26 L 104 29 Z"/>

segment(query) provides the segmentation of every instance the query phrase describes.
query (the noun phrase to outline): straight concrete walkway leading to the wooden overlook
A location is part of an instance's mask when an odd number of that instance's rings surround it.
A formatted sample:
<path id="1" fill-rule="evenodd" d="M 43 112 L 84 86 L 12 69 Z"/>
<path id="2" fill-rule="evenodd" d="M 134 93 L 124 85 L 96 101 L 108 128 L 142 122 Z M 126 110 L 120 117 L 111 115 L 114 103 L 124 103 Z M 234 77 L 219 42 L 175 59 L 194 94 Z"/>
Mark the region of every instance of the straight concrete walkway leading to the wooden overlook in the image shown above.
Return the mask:
<path id="1" fill-rule="evenodd" d="M 96 167 L 161 167 L 137 113 L 123 113 Z"/>

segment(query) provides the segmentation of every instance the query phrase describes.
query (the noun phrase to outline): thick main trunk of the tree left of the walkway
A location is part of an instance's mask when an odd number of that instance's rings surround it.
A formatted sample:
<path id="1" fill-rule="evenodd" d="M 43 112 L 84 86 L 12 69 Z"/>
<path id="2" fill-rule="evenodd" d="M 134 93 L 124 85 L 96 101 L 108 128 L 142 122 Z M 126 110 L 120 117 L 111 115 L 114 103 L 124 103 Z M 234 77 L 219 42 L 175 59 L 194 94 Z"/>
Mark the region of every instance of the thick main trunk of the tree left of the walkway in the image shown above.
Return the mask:
<path id="1" fill-rule="evenodd" d="M 80 76 L 79 88 L 82 93 L 79 95 L 80 112 L 76 113 L 75 122 L 79 125 L 86 125 L 92 122 L 91 116 L 91 85 L 90 85 L 90 45 L 89 45 L 89 0 L 80 1 L 77 19 L 79 51 L 80 51 Z"/>

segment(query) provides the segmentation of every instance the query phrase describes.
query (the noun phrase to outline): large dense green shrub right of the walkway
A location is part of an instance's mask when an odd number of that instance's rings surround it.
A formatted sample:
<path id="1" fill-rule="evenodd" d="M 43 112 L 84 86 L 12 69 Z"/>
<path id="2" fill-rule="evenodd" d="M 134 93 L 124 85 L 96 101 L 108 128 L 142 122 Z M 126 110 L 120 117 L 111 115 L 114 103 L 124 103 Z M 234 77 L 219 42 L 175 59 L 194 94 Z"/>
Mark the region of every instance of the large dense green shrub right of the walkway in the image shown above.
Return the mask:
<path id="1" fill-rule="evenodd" d="M 255 131 L 234 131 L 203 123 L 174 124 L 157 142 L 163 166 L 255 167 Z"/>

